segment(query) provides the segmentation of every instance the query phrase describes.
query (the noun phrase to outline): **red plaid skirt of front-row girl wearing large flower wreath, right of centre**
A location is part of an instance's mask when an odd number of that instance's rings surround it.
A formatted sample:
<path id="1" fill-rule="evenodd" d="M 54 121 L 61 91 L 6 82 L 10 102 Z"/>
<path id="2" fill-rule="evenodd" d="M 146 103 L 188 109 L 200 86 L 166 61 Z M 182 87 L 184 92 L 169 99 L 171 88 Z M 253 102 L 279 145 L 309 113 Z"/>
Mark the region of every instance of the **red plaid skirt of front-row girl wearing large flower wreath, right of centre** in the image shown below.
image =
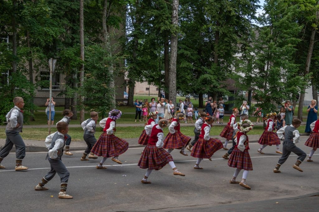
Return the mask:
<path id="1" fill-rule="evenodd" d="M 253 164 L 251 163 L 248 150 L 241 152 L 235 147 L 234 151 L 229 156 L 228 166 L 243 170 L 253 170 Z"/>

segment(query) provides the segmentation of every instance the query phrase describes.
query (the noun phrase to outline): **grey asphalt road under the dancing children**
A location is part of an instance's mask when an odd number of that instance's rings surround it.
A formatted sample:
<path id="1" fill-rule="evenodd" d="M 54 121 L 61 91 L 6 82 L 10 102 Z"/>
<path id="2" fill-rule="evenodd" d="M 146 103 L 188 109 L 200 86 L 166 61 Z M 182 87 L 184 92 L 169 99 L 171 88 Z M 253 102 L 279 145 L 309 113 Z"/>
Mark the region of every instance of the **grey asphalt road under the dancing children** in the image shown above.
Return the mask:
<path id="1" fill-rule="evenodd" d="M 298 146 L 307 154 L 310 148 Z M 273 173 L 280 155 L 275 146 L 266 147 L 260 154 L 259 144 L 250 145 L 253 171 L 249 172 L 247 190 L 238 184 L 230 184 L 235 171 L 227 166 L 219 150 L 212 161 L 201 162 L 203 170 L 193 169 L 196 159 L 183 156 L 178 150 L 172 152 L 177 168 L 185 177 L 173 175 L 167 164 L 153 171 L 148 180 L 152 184 L 141 184 L 146 170 L 137 166 L 143 148 L 129 148 L 120 155 L 123 165 L 108 159 L 107 169 L 96 169 L 99 159 L 80 161 L 82 151 L 73 156 L 63 155 L 63 162 L 70 171 L 67 194 L 71 200 L 58 199 L 60 187 L 58 175 L 46 184 L 47 191 L 33 188 L 49 171 L 46 152 L 28 152 L 23 165 L 29 169 L 14 171 L 15 154 L 10 153 L 1 163 L 0 208 L 6 211 L 314 211 L 319 206 L 319 154 L 314 162 L 303 162 L 299 172 L 292 168 L 297 156 L 292 154 L 280 167 L 282 173 Z M 315 152 L 318 153 L 318 152 Z M 241 180 L 242 171 L 238 176 Z M 300 197 L 304 195 L 304 197 Z M 313 197 L 310 197 L 310 196 Z M 52 197 L 51 197 L 52 196 Z M 297 198 L 298 197 L 298 198 Z M 304 198 L 304 199 L 303 199 Z M 293 200 L 293 201 L 289 201 Z"/>

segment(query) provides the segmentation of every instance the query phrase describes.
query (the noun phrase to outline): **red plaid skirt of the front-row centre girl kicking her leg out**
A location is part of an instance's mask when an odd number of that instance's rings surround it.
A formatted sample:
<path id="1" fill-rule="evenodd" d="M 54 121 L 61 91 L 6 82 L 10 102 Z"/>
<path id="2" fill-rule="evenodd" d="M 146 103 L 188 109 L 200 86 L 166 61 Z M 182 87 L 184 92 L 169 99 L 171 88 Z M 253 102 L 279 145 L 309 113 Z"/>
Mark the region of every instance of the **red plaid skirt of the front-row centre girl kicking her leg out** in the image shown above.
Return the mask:
<path id="1" fill-rule="evenodd" d="M 142 169 L 159 170 L 170 161 L 173 161 L 173 157 L 165 149 L 147 144 L 137 166 Z"/>

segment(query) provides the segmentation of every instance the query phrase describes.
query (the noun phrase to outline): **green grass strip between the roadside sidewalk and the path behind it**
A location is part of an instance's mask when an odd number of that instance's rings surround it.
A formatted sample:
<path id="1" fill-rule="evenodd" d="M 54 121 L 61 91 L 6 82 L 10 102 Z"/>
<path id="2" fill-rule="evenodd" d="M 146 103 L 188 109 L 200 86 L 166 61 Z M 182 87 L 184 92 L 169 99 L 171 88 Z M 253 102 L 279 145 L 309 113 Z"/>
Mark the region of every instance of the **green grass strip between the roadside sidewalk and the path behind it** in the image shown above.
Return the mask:
<path id="1" fill-rule="evenodd" d="M 211 128 L 211 137 L 218 136 L 225 126 L 213 126 Z M 130 126 L 130 127 L 117 127 L 115 135 L 119 138 L 136 138 L 138 139 L 141 135 L 144 127 L 143 126 Z M 305 131 L 305 125 L 298 128 L 300 133 Z M 194 136 L 194 125 L 189 124 L 189 126 L 182 126 L 181 132 L 187 136 Z M 264 131 L 262 125 L 255 126 L 252 131 L 249 132 L 250 135 L 261 135 Z M 51 128 L 51 133 L 55 132 L 55 128 Z M 99 138 L 102 133 L 102 128 L 98 127 L 96 129 L 95 138 Z M 164 135 L 167 135 L 168 128 L 164 128 Z M 83 129 L 81 127 L 70 127 L 69 131 L 72 141 L 83 141 Z M 249 135 L 248 134 L 248 135 Z M 42 140 L 44 141 L 48 135 L 48 128 L 25 128 L 21 133 L 23 139 L 26 140 Z M 5 131 L 0 131 L 0 138 L 5 139 Z"/>

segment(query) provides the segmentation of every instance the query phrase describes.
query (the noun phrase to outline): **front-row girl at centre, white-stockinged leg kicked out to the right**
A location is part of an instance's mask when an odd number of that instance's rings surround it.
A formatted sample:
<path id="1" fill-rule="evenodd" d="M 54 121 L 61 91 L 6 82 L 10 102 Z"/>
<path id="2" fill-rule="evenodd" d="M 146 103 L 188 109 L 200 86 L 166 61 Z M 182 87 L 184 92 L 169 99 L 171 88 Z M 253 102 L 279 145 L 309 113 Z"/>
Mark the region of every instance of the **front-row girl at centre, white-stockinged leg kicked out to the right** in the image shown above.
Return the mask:
<path id="1" fill-rule="evenodd" d="M 150 125 L 147 125 L 150 126 Z M 152 129 L 146 128 L 146 133 L 150 136 L 148 144 L 142 152 L 141 158 L 138 161 L 138 166 L 142 169 L 147 169 L 144 178 L 141 183 L 149 184 L 147 178 L 150 176 L 152 171 L 163 168 L 167 163 L 172 167 L 174 175 L 185 176 L 177 170 L 172 156 L 162 148 L 163 146 L 163 128 L 167 126 L 166 119 L 160 119 L 159 124 L 155 124 Z"/>

